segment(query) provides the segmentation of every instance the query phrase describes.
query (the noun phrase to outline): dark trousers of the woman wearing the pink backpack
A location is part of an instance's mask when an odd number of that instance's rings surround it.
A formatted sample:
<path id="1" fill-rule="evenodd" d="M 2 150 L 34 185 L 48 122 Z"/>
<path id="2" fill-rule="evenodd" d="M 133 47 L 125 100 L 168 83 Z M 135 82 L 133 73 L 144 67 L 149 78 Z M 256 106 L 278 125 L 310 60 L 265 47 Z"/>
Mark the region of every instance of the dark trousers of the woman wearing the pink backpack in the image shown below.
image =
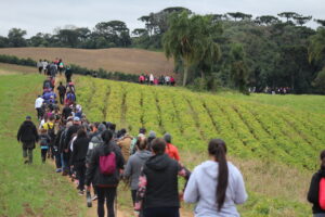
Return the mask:
<path id="1" fill-rule="evenodd" d="M 106 199 L 106 207 L 108 210 L 107 216 L 115 217 L 115 212 L 114 212 L 115 196 L 116 196 L 116 187 L 114 187 L 114 188 L 98 187 L 98 200 L 99 200 L 98 215 L 99 215 L 99 217 L 105 216 L 105 210 L 104 210 L 105 199 Z"/>

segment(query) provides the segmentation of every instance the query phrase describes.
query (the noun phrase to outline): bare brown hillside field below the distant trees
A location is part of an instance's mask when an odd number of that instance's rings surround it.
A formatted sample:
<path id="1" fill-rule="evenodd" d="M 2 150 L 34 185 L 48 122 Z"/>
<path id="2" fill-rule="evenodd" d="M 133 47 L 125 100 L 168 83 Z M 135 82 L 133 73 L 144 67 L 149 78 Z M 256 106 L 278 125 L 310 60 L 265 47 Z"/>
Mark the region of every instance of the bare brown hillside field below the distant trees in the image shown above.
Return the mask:
<path id="1" fill-rule="evenodd" d="M 0 54 L 31 58 L 35 61 L 61 58 L 65 63 L 90 69 L 103 68 L 127 74 L 150 72 L 160 75 L 173 72 L 172 61 L 168 61 L 164 53 L 140 49 L 8 48 L 0 49 Z"/>

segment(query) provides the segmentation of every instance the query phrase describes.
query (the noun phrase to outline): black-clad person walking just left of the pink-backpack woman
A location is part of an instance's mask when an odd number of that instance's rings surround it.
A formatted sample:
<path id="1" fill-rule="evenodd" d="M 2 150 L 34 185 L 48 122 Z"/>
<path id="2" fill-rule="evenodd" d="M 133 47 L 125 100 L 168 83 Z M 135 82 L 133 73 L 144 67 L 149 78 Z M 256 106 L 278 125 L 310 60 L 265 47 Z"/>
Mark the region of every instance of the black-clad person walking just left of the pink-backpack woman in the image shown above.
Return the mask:
<path id="1" fill-rule="evenodd" d="M 70 158 L 70 165 L 77 173 L 79 178 L 79 195 L 83 195 L 84 190 L 84 175 L 86 175 L 86 154 L 89 145 L 89 138 L 83 128 L 80 128 L 77 132 L 77 139 L 74 142 L 73 154 Z"/>

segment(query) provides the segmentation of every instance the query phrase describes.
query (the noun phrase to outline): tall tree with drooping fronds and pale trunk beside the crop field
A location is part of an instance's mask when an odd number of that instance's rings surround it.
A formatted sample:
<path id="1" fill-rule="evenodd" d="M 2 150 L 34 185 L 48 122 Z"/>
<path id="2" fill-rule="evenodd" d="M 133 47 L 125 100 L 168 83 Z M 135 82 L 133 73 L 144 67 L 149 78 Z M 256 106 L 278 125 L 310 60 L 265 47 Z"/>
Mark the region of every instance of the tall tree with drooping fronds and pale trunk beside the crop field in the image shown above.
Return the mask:
<path id="1" fill-rule="evenodd" d="M 216 28 L 211 16 L 190 15 L 186 11 L 170 16 L 169 29 L 162 37 L 162 44 L 168 59 L 181 60 L 184 68 L 183 86 L 187 82 L 188 68 L 203 60 L 208 49 L 213 50 L 211 59 L 218 60 L 220 53 L 217 52 L 211 35 L 211 29 Z"/>

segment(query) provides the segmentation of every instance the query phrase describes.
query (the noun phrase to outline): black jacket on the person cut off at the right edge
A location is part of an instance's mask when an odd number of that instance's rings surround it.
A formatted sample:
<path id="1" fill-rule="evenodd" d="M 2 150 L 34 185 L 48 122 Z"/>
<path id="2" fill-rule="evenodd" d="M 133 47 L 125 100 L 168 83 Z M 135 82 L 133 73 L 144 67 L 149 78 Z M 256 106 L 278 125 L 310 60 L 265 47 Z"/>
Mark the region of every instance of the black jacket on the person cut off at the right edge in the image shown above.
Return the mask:
<path id="1" fill-rule="evenodd" d="M 313 214 L 325 213 L 325 210 L 320 207 L 318 203 L 321 178 L 325 178 L 325 169 L 320 169 L 316 174 L 314 174 L 307 196 L 308 201 L 313 204 Z"/>

